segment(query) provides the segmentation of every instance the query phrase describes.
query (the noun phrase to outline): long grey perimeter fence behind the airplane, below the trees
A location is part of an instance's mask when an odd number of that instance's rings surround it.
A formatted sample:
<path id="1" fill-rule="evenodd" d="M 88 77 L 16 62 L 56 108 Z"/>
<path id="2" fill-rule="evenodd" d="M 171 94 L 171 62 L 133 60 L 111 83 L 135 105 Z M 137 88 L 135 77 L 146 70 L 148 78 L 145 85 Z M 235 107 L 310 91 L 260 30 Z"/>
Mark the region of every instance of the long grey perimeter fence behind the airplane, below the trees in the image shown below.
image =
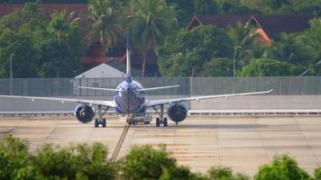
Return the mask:
<path id="1" fill-rule="evenodd" d="M 112 96 L 114 92 L 78 86 L 115 88 L 123 78 L 3 78 L 0 94 L 35 96 Z M 287 77 L 145 77 L 134 78 L 143 87 L 180 85 L 148 95 L 232 94 L 274 89 L 267 95 L 321 94 L 321 76 Z"/>

